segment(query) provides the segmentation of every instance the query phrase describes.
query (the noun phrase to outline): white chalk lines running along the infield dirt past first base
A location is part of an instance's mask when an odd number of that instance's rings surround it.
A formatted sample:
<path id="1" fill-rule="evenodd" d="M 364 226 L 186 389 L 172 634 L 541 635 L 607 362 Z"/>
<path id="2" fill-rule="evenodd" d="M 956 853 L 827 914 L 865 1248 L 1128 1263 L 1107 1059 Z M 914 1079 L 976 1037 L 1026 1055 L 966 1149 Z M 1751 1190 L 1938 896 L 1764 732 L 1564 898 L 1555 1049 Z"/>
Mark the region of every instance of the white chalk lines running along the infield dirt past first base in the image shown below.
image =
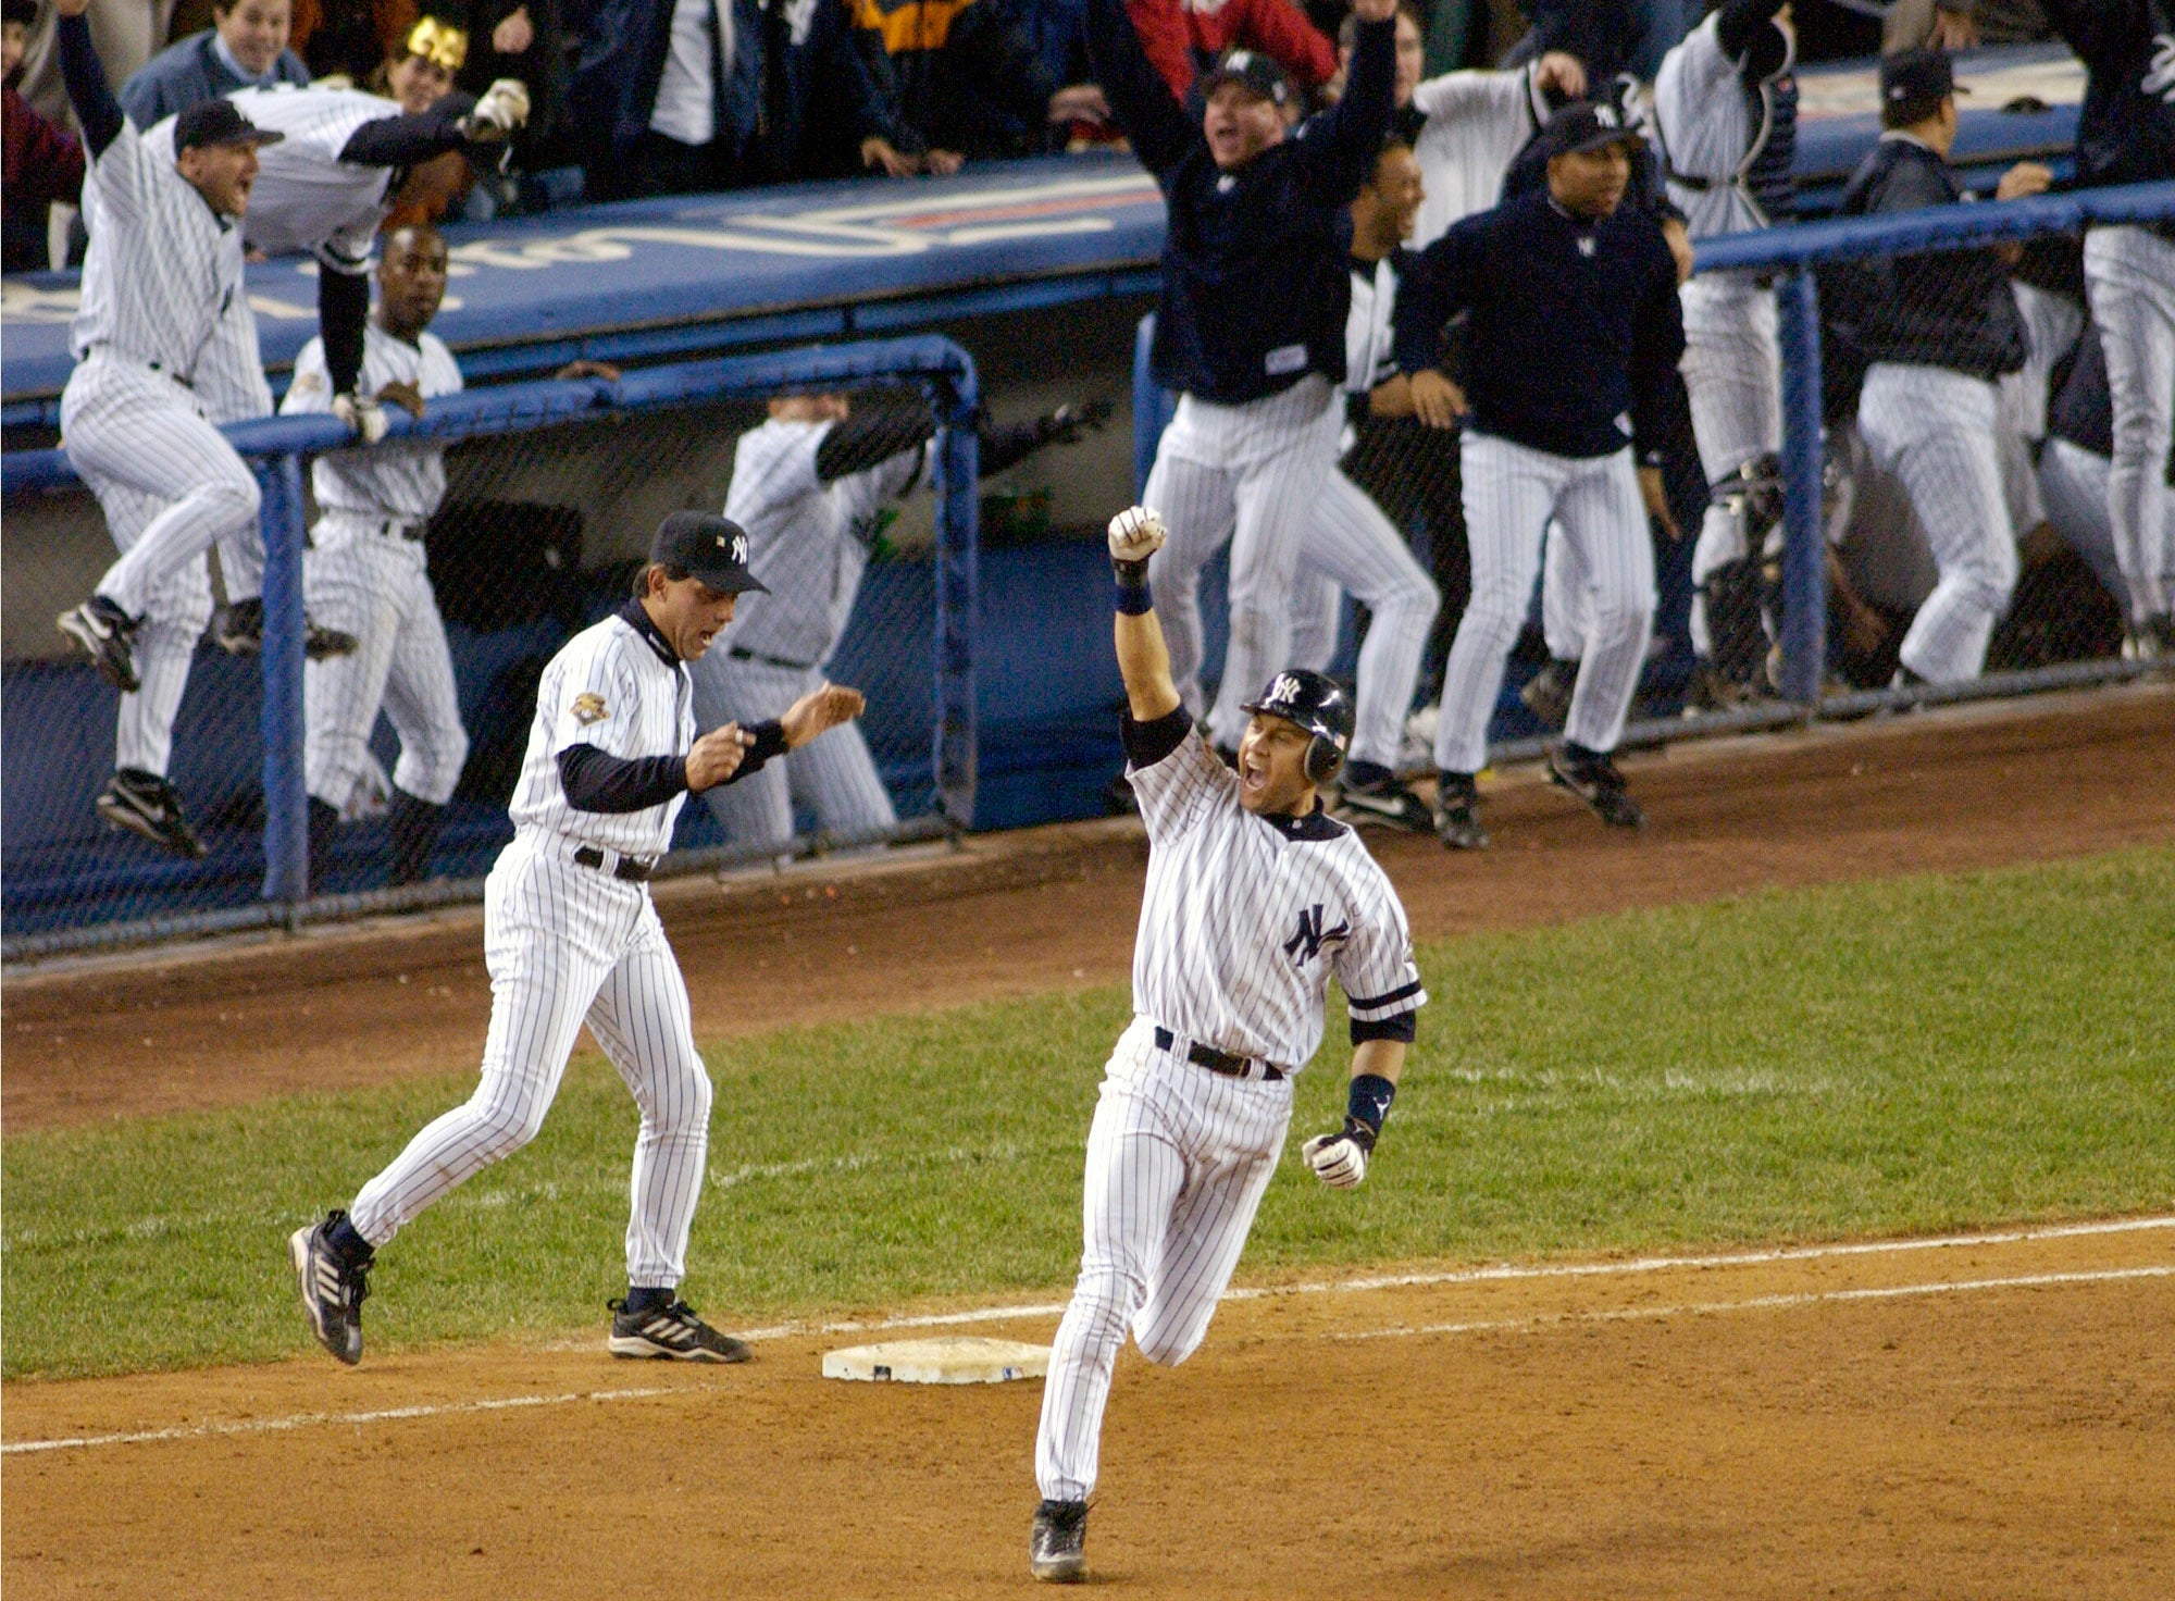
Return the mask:
<path id="1" fill-rule="evenodd" d="M 1688 1257 L 1633 1257 L 1625 1262 L 1555 1262 L 1540 1266 L 1492 1266 L 1492 1268 L 1455 1268 L 1444 1273 L 1401 1273 L 1392 1277 L 1372 1279 L 1327 1279 L 1314 1283 L 1285 1283 L 1285 1286 L 1257 1286 L 1225 1290 L 1225 1301 L 1264 1301 L 1281 1294 L 1364 1294 L 1370 1290 L 1407 1290 L 1427 1288 L 1440 1283 L 1488 1283 L 1503 1279 L 1573 1279 L 1573 1277 L 1599 1277 L 1599 1275 L 1629 1275 L 1629 1273 L 1662 1273 L 1670 1268 L 1733 1268 L 1733 1266 L 1762 1266 L 1773 1262 L 1812 1262 L 1820 1257 L 1855 1257 L 1855 1255 L 1892 1255 L 1903 1251 L 1940 1251 L 1960 1246 L 1984 1246 L 1984 1244 L 2021 1244 L 2029 1240 L 2068 1240 L 2079 1236 L 2105 1236 L 2105 1233 L 2136 1233 L 2140 1229 L 2175 1229 L 2175 1216 L 2158 1218 L 2112 1218 L 2105 1223 L 2060 1223 L 2042 1229 L 1999 1229 L 1986 1233 L 1947 1233 L 1929 1236 L 1925 1240 L 1868 1240 L 1860 1244 L 1810 1244 L 1810 1246 L 1788 1246 L 1779 1251 L 1736 1251 L 1736 1253 L 1714 1253 L 1714 1255 L 1688 1255 Z M 2140 1277 L 2175 1277 L 2175 1266 L 2168 1268 L 2116 1268 L 2108 1273 L 2071 1273 L 2071 1275 L 2023 1275 L 2014 1279 L 1973 1279 L 1973 1281 L 1940 1281 L 1929 1286 L 1899 1286 L 1888 1290 L 1827 1290 L 1812 1294 L 1786 1294 L 1786 1296 L 1757 1296 L 1751 1301 L 1716 1301 L 1703 1305 L 1683 1307 L 1640 1307 L 1633 1312 L 1592 1312 L 1592 1314 L 1570 1314 L 1570 1316 L 1538 1316 L 1538 1318 L 1505 1318 L 1492 1323 L 1442 1323 L 1425 1325 L 1414 1329 L 1375 1329 L 1357 1333 L 1340 1333 L 1340 1340 L 1385 1340 L 1385 1338 L 1412 1338 L 1422 1333 L 1483 1333 L 1499 1329 L 1531 1329 L 1546 1323 L 1570 1323 L 1570 1320 L 1627 1320 L 1627 1318 L 1666 1318 L 1666 1316 L 1692 1316 L 1701 1312 L 1751 1312 L 1762 1307 L 1792 1307 L 1810 1305 L 1814 1301 L 1866 1301 L 1877 1296 L 1901 1296 L 1901 1294 L 1947 1294 L 1955 1290 L 1994 1290 L 1994 1288 L 2029 1288 L 2036 1283 L 2092 1283 L 2103 1279 L 2140 1279 Z M 1009 1307 L 972 1307 L 966 1312 L 927 1312 L 916 1316 L 898 1318 L 868 1318 L 868 1320 L 842 1320 L 842 1323 L 776 1323 L 768 1329 L 742 1329 L 737 1331 L 742 1340 L 785 1340 L 805 1333 L 866 1333 L 879 1329 L 946 1329 L 972 1323 L 1007 1323 L 1016 1318 L 1055 1318 L 1064 1316 L 1066 1303 L 1040 1303 L 1040 1305 L 1009 1305 Z M 450 1418 L 478 1412 L 518 1412 L 524 1407 L 557 1407 L 570 1405 L 574 1401 L 642 1401 L 666 1394 L 696 1394 L 718 1386 L 648 1386 L 639 1390 L 572 1390 L 566 1394 L 522 1394 L 505 1397 L 498 1401 L 446 1401 L 435 1405 L 411 1405 L 411 1407 L 383 1407 L 376 1412 L 298 1412 L 285 1418 L 248 1418 L 241 1423 L 198 1423 L 178 1429 L 137 1429 L 128 1434 L 87 1434 L 63 1440 L 13 1440 L 0 1444 L 0 1455 L 28 1455 L 33 1451 L 85 1451 L 91 1447 L 107 1444 L 154 1444 L 161 1440 L 202 1440 L 220 1436 L 239 1434 L 276 1434 L 283 1429 L 311 1429 L 326 1425 L 365 1425 L 365 1423 L 398 1423 L 407 1418 Z"/>

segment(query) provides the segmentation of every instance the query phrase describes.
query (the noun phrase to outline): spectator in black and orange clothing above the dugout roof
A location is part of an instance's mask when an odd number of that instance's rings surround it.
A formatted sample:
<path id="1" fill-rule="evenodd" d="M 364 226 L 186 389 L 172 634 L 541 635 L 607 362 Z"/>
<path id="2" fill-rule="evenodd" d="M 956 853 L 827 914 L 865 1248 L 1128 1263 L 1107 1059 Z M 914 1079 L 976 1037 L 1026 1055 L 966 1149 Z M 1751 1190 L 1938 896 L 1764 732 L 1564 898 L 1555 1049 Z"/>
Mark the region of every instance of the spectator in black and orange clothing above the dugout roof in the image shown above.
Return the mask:
<path id="1" fill-rule="evenodd" d="M 887 122 L 887 141 L 929 172 L 966 159 L 1033 154 L 1048 128 L 1103 124 L 1092 85 L 1064 87 L 990 0 L 853 0 L 855 41 Z"/>

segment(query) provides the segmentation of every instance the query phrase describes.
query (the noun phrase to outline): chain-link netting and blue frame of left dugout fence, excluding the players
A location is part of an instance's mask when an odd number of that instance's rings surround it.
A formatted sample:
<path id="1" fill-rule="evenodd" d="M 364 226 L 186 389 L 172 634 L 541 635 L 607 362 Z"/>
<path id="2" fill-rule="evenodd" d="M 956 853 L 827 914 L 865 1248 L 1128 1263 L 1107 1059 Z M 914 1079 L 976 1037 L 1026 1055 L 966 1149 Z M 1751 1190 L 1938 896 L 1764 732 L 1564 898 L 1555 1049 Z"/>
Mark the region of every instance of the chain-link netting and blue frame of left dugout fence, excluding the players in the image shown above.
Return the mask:
<path id="1" fill-rule="evenodd" d="M 433 879 L 385 888 L 385 800 L 394 733 L 378 718 L 363 779 L 318 883 L 307 872 L 300 553 L 315 520 L 313 452 L 341 439 L 326 418 L 231 429 L 265 489 L 265 650 L 228 657 L 209 640 L 189 668 L 170 779 L 207 855 L 185 859 L 104 822 L 120 696 L 76 659 L 11 661 L 7 827 L 0 842 L 9 959 L 226 929 L 298 924 L 481 898 L 511 837 L 544 663 L 574 631 L 629 598 L 657 522 L 724 507 L 739 437 L 781 394 L 848 394 L 857 409 L 933 411 L 918 487 L 857 529 L 866 570 L 822 663 L 868 694 L 861 722 L 892 827 L 824 831 L 794 794 L 794 831 L 735 837 L 689 798 L 661 872 L 929 837 L 974 814 L 977 374 L 946 339 L 733 357 L 472 389 L 394 431 L 448 442 L 448 489 L 426 535 L 468 757 L 444 814 Z M 65 457 L 7 457 L 11 531 L 89 518 L 98 505 Z M 20 548 L 20 546 L 17 546 Z M 735 824 L 746 829 L 746 822 Z"/>

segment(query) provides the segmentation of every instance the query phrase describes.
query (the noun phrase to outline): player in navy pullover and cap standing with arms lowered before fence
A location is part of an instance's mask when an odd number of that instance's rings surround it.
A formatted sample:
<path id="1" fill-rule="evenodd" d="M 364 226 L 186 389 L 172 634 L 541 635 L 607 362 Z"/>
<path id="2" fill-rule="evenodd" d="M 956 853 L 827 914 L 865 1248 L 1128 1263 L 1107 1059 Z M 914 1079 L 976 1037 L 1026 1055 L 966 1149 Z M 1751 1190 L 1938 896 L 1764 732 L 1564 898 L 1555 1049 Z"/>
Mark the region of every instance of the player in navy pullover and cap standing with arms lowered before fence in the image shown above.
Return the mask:
<path id="1" fill-rule="evenodd" d="M 1653 626 L 1646 516 L 1666 502 L 1660 470 L 1636 468 L 1631 446 L 1655 448 L 1683 355 L 1677 263 L 1655 218 L 1620 204 L 1638 139 L 1614 107 L 1570 104 L 1546 137 L 1546 187 L 1442 235 L 1396 307 L 1399 365 L 1414 407 L 1438 426 L 1459 398 L 1435 370 L 1442 326 L 1470 313 L 1462 466 L 1472 603 L 1435 729 L 1435 831 L 1453 851 L 1488 844 L 1477 774 L 1551 518 L 1583 581 L 1586 653 L 1549 779 L 1603 822 L 1644 822 L 1612 753 Z"/>

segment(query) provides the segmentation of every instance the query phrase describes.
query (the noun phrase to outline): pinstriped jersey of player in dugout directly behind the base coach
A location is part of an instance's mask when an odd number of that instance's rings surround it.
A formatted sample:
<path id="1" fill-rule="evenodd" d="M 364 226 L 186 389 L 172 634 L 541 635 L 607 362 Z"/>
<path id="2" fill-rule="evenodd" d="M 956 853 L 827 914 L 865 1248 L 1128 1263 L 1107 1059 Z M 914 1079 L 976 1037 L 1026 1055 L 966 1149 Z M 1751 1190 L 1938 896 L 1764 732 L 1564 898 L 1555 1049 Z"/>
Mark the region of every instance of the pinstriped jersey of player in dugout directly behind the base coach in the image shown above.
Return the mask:
<path id="1" fill-rule="evenodd" d="M 831 422 L 772 420 L 739 435 L 724 516 L 748 531 L 748 566 L 770 585 L 750 592 L 720 646 L 818 668 L 831 659 L 868 568 L 877 511 L 920 479 L 931 446 L 833 483 L 816 474 Z"/>

